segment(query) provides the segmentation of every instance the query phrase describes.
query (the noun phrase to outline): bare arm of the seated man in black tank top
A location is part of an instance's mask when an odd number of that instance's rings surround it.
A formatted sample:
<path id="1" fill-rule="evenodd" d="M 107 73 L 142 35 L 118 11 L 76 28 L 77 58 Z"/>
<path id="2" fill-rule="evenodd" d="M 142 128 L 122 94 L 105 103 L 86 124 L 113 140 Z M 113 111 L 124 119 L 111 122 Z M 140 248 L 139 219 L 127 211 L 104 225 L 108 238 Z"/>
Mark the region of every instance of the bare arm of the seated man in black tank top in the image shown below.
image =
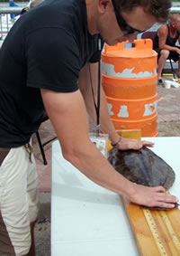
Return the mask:
<path id="1" fill-rule="evenodd" d="M 166 38 L 168 34 L 168 28 L 166 25 L 162 25 L 158 29 L 158 46 L 160 50 L 168 50 L 170 52 L 177 52 L 177 54 L 180 54 L 180 49 L 176 46 L 170 46 L 166 44 Z"/>

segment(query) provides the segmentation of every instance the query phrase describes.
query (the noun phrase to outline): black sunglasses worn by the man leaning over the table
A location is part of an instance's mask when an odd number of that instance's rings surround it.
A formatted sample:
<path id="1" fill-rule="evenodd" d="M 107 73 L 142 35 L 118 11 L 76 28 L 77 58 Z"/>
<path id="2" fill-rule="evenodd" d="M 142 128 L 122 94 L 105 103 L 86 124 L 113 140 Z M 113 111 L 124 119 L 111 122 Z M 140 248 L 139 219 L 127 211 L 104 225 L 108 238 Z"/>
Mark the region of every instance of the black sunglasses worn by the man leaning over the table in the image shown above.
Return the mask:
<path id="1" fill-rule="evenodd" d="M 121 29 L 121 32 L 124 34 L 134 34 L 134 33 L 143 33 L 146 30 L 139 30 L 136 28 L 131 27 L 129 24 L 126 23 L 126 21 L 121 16 L 121 13 L 119 12 L 118 8 L 114 5 L 114 1 L 112 0 L 112 5 L 114 8 L 115 16 L 117 23 L 119 24 L 119 27 Z"/>

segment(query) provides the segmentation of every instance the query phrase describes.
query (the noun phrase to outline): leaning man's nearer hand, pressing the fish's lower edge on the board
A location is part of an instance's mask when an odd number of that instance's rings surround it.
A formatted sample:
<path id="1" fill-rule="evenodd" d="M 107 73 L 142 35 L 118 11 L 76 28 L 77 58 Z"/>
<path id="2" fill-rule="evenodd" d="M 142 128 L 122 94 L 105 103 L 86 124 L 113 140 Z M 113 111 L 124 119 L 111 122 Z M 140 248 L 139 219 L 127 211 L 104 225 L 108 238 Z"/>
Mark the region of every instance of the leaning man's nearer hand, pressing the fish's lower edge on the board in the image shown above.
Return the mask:
<path id="1" fill-rule="evenodd" d="M 148 207 L 169 208 L 175 207 L 178 199 L 175 195 L 167 194 L 163 186 L 148 187 L 134 185 L 134 191 L 130 194 L 130 202 Z"/>

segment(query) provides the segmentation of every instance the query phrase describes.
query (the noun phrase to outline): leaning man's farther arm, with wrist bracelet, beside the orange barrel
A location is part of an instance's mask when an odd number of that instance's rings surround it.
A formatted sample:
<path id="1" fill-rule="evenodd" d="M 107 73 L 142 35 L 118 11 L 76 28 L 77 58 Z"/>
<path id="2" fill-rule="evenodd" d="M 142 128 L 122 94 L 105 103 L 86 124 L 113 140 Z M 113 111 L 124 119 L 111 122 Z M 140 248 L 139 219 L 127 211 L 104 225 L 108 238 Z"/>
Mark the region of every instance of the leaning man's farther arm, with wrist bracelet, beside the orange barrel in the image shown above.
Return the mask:
<path id="1" fill-rule="evenodd" d="M 90 79 L 90 71 L 92 77 L 92 85 Z M 85 100 L 85 107 L 87 109 L 88 114 L 94 122 L 96 122 L 96 112 L 94 108 L 94 100 L 97 101 L 97 86 L 98 86 L 98 63 L 87 63 L 84 69 L 80 72 L 79 75 L 79 88 L 83 94 Z M 92 93 L 92 86 L 94 90 L 94 100 Z M 117 134 L 112 120 L 109 115 L 106 97 L 101 86 L 101 107 L 100 107 L 100 125 L 104 133 L 109 135 L 109 138 L 112 144 L 116 143 L 119 139 L 119 135 Z M 154 143 L 148 141 L 139 141 L 136 139 L 122 138 L 119 143 L 119 148 L 123 149 L 140 149 L 143 146 L 153 147 Z"/>

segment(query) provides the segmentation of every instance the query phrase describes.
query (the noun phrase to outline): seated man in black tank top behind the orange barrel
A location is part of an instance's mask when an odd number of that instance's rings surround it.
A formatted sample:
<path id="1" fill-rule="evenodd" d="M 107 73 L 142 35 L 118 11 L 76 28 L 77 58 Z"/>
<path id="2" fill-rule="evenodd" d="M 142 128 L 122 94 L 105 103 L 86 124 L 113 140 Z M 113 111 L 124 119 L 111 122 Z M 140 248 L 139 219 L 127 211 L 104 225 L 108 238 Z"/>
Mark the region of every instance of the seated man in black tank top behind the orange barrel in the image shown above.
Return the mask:
<path id="1" fill-rule="evenodd" d="M 153 49 L 157 52 L 157 81 L 163 84 L 162 71 L 165 67 L 166 60 L 172 59 L 178 62 L 177 76 L 180 76 L 180 49 L 175 46 L 177 40 L 180 42 L 180 15 L 171 14 L 168 24 L 162 25 L 153 40 Z"/>

